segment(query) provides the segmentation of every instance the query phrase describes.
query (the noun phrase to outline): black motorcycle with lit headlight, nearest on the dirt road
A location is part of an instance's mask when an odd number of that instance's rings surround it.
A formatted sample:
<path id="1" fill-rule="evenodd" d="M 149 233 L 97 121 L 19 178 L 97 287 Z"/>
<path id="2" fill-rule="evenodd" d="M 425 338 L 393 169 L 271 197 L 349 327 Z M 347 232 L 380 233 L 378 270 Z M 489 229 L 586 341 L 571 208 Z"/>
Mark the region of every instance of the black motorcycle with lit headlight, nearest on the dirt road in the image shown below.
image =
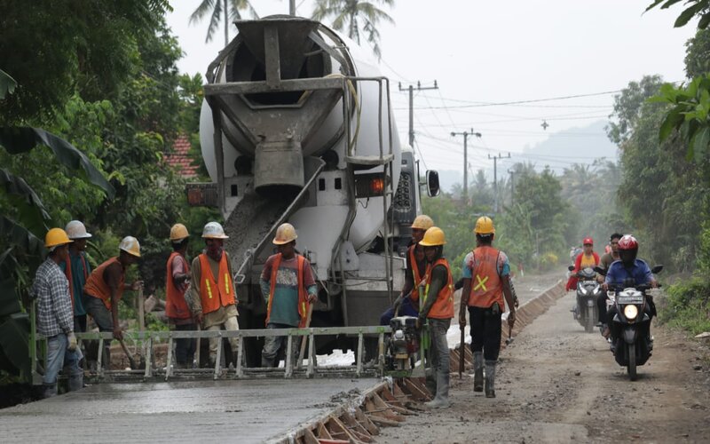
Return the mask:
<path id="1" fill-rule="evenodd" d="M 652 274 L 658 274 L 663 266 L 654 266 Z M 596 267 L 597 273 L 605 274 L 604 269 Z M 660 287 L 660 285 L 659 285 Z M 650 285 L 635 285 L 633 279 L 623 285 L 610 286 L 607 291 L 607 307 L 616 306 L 612 329 L 619 332 L 611 351 L 620 366 L 627 368 L 628 377 L 638 378 L 636 367 L 643 365 L 651 357 L 651 316 L 646 312 L 647 305 L 652 306 L 652 297 L 646 291 Z M 651 308 L 652 311 L 652 308 Z"/>

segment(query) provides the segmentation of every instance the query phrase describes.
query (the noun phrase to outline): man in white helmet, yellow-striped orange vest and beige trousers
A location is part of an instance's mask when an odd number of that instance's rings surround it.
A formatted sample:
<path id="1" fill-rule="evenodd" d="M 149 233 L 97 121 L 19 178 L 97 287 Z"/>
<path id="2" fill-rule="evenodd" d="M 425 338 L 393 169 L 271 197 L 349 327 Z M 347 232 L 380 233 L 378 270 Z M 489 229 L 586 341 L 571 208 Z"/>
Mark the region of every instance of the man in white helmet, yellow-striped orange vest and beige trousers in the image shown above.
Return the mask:
<path id="1" fill-rule="evenodd" d="M 232 261 L 225 251 L 225 229 L 217 222 L 202 228 L 205 250 L 193 259 L 191 290 L 185 294 L 194 320 L 206 330 L 238 330 L 236 292 L 232 280 Z M 217 279 L 215 278 L 217 276 Z M 237 360 L 237 337 L 230 337 L 233 361 Z M 209 365 L 216 364 L 219 337 L 209 338 Z"/>

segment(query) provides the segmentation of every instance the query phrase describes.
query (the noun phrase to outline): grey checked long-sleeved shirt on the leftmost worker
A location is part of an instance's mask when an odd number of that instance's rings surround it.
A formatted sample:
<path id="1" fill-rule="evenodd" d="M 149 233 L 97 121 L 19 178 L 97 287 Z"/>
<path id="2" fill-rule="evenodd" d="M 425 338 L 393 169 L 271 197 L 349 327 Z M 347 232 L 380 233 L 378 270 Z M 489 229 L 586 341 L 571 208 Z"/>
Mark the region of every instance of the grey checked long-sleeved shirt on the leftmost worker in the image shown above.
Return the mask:
<path id="1" fill-rule="evenodd" d="M 51 258 L 37 268 L 32 294 L 37 297 L 37 332 L 40 335 L 53 337 L 74 331 L 69 281 Z"/>

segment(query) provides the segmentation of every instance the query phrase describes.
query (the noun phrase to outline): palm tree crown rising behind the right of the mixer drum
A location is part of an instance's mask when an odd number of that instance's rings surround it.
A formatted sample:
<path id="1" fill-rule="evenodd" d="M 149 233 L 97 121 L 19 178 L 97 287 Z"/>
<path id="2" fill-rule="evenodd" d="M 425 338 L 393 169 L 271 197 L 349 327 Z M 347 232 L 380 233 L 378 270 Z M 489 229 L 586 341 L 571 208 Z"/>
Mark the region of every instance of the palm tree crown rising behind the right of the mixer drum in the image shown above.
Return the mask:
<path id="1" fill-rule="evenodd" d="M 372 49 L 378 59 L 382 58 L 380 52 L 380 31 L 377 25 L 380 20 L 394 23 L 387 12 L 375 6 L 375 3 L 394 6 L 394 0 L 316 0 L 313 10 L 313 20 L 324 20 L 333 16 L 332 27 L 338 31 L 347 32 L 348 36 L 360 44 L 360 28 L 367 35 L 367 42 L 372 44 Z M 345 31 L 347 29 L 347 31 Z"/>

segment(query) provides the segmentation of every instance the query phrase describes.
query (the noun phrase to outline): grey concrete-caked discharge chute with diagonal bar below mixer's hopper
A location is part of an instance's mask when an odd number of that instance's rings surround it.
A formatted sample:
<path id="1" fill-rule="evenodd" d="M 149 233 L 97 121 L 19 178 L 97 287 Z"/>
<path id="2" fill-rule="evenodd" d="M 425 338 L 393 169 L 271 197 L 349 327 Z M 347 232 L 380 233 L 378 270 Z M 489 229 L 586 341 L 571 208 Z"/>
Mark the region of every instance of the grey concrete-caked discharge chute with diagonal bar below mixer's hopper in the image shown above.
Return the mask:
<path id="1" fill-rule="evenodd" d="M 248 284 L 251 281 L 251 268 L 255 258 L 271 244 L 273 234 L 280 224 L 301 208 L 307 201 L 309 189 L 326 163 L 318 157 L 304 158 L 305 185 L 296 194 L 262 196 L 250 190 L 232 211 L 225 223 L 229 239 L 225 241 L 226 250 L 232 256 L 234 283 Z M 238 291 L 240 302 L 248 302 L 246 291 Z"/>

